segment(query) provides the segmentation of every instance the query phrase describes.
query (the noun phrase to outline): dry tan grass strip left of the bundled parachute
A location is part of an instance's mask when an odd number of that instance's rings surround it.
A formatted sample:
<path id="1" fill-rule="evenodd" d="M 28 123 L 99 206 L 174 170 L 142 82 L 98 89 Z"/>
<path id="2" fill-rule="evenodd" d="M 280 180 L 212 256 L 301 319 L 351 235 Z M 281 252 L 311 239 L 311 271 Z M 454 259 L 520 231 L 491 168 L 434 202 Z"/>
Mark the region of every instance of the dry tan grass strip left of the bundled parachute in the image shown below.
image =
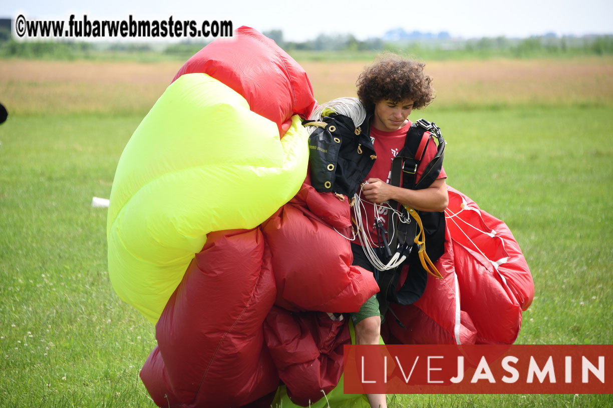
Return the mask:
<path id="1" fill-rule="evenodd" d="M 147 112 L 177 62 L 0 61 L 0 102 L 12 114 Z"/>

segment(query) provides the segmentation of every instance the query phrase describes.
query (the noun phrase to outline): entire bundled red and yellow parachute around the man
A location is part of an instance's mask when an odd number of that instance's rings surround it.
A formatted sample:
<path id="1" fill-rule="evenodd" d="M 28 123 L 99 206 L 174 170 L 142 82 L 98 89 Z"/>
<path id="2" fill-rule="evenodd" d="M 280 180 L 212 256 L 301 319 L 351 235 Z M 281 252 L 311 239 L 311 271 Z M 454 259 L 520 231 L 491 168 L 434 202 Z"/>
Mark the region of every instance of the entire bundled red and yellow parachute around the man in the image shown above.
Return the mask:
<path id="1" fill-rule="evenodd" d="M 186 62 L 124 149 L 109 275 L 156 323 L 140 376 L 158 406 L 323 407 L 322 393 L 331 406 L 368 406 L 342 393 L 351 337 L 339 313 L 359 310 L 378 286 L 351 265 L 349 200 L 310 185 L 300 119 L 315 105 L 302 67 L 242 27 Z M 517 243 L 452 189 L 447 215 L 459 227 L 447 222 L 444 280 L 430 278 L 422 299 L 397 308 L 408 329 L 388 316 L 383 335 L 512 343 L 533 297 Z M 466 224 L 499 241 L 471 228 L 464 237 Z"/>

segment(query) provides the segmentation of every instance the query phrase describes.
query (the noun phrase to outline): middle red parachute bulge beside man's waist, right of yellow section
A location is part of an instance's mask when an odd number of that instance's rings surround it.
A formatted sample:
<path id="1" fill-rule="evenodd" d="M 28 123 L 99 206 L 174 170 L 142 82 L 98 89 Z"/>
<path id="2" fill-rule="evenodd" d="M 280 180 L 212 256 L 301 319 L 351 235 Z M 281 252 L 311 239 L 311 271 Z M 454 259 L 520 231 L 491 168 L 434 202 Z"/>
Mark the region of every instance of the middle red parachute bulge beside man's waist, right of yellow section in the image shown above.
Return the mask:
<path id="1" fill-rule="evenodd" d="M 345 313 L 358 311 L 378 292 L 378 287 L 365 292 L 371 287 L 371 274 L 351 265 L 353 255 L 345 238 L 351 234 L 348 201 L 318 193 L 308 179 L 294 199 L 262 223 L 262 232 L 274 254 L 276 305 L 292 311 Z"/>

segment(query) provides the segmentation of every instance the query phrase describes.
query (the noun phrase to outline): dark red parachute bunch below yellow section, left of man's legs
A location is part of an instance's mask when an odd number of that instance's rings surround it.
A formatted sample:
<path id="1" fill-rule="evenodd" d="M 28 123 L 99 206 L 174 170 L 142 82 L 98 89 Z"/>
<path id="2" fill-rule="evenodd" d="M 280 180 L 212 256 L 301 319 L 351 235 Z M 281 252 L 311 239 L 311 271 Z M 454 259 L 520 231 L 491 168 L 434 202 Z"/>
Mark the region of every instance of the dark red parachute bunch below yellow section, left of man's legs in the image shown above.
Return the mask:
<path id="1" fill-rule="evenodd" d="M 154 402 L 243 406 L 279 380 L 302 405 L 332 390 L 351 340 L 322 312 L 357 311 L 378 291 L 335 231 L 348 217 L 347 201 L 304 184 L 260 227 L 209 234 L 156 324 L 141 372 Z"/>

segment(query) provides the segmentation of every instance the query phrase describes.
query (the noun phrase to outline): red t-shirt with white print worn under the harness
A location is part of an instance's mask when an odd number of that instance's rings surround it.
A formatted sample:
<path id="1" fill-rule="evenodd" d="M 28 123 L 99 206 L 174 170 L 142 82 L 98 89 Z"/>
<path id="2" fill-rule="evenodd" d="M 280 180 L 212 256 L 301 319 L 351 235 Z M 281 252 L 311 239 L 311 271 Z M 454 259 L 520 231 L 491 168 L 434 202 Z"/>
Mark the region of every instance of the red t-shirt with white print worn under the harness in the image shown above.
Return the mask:
<path id="1" fill-rule="evenodd" d="M 406 132 L 409 131 L 409 127 L 411 127 L 411 121 L 398 130 L 394 130 L 394 132 L 384 132 L 383 130 L 378 130 L 374 126 L 370 127 L 370 139 L 373 141 L 373 146 L 375 146 L 375 152 L 377 158 L 375 160 L 375 164 L 373 168 L 368 172 L 368 176 L 366 179 L 377 178 L 381 179 L 384 182 L 390 182 L 392 177 L 392 160 L 394 157 L 402 150 L 405 146 L 405 136 Z M 421 179 L 422 174 L 424 174 L 425 166 L 430 163 L 430 160 L 434 158 L 436 155 L 436 143 L 428 143 L 427 148 L 422 156 L 422 160 L 419 162 L 419 166 L 417 166 L 417 174 L 415 177 L 416 182 Z M 441 174 L 437 177 L 438 179 L 446 179 L 447 174 L 445 174 L 445 170 L 441 168 Z M 362 221 L 364 221 L 364 228 L 369 226 L 370 239 L 372 242 L 377 243 L 378 237 L 375 229 L 376 220 L 380 219 L 383 223 L 383 228 L 386 231 L 389 231 L 387 228 L 388 225 L 388 209 L 386 207 L 380 208 L 380 212 L 375 214 L 375 206 L 370 201 L 364 199 L 361 191 L 360 198 L 362 199 L 362 204 L 364 207 L 360 209 L 362 212 Z M 356 210 L 356 206 L 354 206 L 354 210 Z M 353 242 L 359 244 L 359 239 L 354 240 Z M 383 242 L 379 242 L 380 245 L 383 245 Z"/>

